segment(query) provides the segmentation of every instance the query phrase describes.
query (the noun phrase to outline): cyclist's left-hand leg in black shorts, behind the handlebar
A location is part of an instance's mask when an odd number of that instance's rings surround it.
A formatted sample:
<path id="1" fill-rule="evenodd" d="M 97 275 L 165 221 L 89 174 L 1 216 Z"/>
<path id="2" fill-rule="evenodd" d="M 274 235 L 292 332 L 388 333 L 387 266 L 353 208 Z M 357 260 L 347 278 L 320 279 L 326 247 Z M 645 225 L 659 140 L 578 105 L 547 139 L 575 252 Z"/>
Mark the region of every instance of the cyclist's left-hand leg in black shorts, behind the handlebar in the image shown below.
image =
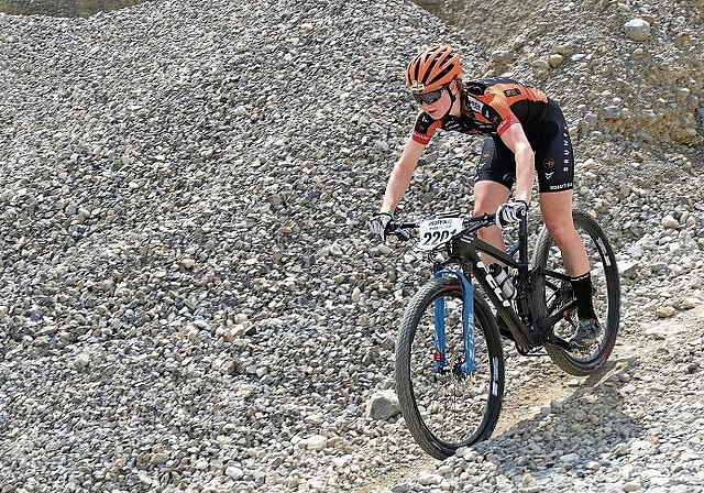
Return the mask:
<path id="1" fill-rule="evenodd" d="M 474 215 L 496 212 L 498 206 L 508 200 L 515 174 L 516 163 L 510 150 L 501 140 L 486 139 L 476 166 Z M 502 230 L 497 226 L 482 228 L 479 234 L 487 243 L 502 250 L 506 249 Z M 484 262 L 490 261 L 484 259 Z"/>

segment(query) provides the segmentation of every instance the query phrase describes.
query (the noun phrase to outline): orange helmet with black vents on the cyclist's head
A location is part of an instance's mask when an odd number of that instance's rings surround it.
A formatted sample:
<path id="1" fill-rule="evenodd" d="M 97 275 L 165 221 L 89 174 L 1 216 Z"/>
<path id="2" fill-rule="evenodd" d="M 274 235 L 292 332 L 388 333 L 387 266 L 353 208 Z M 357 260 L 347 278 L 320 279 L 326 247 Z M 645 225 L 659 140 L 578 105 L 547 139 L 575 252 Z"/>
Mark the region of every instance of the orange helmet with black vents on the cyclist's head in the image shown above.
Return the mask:
<path id="1" fill-rule="evenodd" d="M 462 75 L 462 64 L 449 45 L 430 46 L 406 67 L 406 87 L 414 94 L 440 89 Z"/>

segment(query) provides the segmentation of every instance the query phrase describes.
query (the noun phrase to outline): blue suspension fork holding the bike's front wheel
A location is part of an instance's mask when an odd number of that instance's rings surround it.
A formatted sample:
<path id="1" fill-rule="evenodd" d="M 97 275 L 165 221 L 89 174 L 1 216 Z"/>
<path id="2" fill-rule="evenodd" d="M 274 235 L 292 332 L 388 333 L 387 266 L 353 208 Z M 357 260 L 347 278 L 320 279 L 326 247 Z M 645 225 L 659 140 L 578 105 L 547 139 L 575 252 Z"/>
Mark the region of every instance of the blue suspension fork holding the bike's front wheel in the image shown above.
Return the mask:
<path id="1" fill-rule="evenodd" d="M 462 289 L 462 339 L 464 342 L 464 361 L 459 368 L 463 375 L 468 375 L 476 370 L 474 361 L 474 286 L 466 280 L 462 271 L 455 269 L 443 269 L 436 272 L 435 277 L 453 275 L 460 282 Z M 444 299 L 438 298 L 433 302 L 433 315 L 436 325 L 436 351 L 433 354 L 433 372 L 443 373 L 447 371 L 447 341 L 446 341 L 446 313 Z"/>

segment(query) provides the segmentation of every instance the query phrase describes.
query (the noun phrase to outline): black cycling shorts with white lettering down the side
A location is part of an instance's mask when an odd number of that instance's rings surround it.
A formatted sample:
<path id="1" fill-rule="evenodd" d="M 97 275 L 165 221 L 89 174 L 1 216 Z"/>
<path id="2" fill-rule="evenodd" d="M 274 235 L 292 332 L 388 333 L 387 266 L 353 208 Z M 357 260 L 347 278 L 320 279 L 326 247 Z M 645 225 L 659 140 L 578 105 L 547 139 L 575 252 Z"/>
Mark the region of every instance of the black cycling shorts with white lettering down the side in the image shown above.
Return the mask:
<path id="1" fill-rule="evenodd" d="M 574 152 L 560 107 L 550 100 L 544 117 L 528 128 L 524 127 L 524 132 L 536 153 L 540 193 L 571 190 L 574 182 Z M 516 180 L 514 153 L 498 135 L 484 141 L 476 167 L 476 182 L 482 180 L 501 183 L 508 189 Z"/>

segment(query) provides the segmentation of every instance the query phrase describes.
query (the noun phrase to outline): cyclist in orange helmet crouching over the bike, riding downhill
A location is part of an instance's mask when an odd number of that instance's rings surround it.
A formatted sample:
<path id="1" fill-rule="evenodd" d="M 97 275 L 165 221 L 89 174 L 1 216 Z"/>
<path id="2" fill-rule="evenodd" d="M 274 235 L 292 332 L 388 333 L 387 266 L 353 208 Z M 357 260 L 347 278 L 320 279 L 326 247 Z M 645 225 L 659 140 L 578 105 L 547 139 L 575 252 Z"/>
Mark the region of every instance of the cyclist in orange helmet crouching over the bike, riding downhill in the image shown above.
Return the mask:
<path id="1" fill-rule="evenodd" d="M 439 129 L 486 134 L 474 183 L 474 213 L 496 212 L 497 226 L 480 237 L 505 249 L 501 227 L 528 209 L 536 173 L 540 211 L 562 252 L 578 302 L 572 343 L 593 344 L 601 331 L 592 302 L 586 250 L 572 222 L 574 155 L 562 110 L 537 88 L 507 78 L 463 81 L 460 56 L 448 45 L 431 46 L 410 61 L 406 86 L 420 106 L 415 127 L 386 185 L 370 229 L 386 238 L 418 160 Z M 516 182 L 514 199 L 510 190 Z"/>

